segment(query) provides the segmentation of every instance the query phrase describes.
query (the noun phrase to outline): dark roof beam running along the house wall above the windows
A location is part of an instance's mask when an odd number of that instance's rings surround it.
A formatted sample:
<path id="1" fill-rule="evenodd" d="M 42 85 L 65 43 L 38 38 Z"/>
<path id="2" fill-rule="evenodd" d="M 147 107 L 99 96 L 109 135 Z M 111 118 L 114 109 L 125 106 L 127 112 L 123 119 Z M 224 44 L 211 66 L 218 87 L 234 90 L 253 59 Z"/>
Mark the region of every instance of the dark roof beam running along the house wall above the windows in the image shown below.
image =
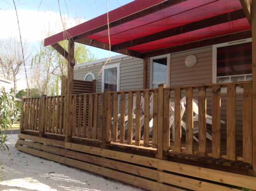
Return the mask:
<path id="1" fill-rule="evenodd" d="M 183 50 L 190 50 L 194 48 L 202 48 L 204 46 L 211 46 L 213 44 L 220 44 L 220 43 L 230 42 L 234 40 L 242 40 L 242 39 L 251 38 L 251 37 L 252 37 L 252 30 L 246 30 L 246 31 L 237 32 L 233 34 L 227 34 L 227 35 L 200 40 L 196 42 L 190 42 L 187 44 L 181 44 L 178 46 L 172 46 L 172 47 L 164 48 L 161 50 L 147 52 L 147 53 L 144 53 L 144 58 L 150 58 L 153 56 L 159 56 L 159 55 L 179 52 Z"/>

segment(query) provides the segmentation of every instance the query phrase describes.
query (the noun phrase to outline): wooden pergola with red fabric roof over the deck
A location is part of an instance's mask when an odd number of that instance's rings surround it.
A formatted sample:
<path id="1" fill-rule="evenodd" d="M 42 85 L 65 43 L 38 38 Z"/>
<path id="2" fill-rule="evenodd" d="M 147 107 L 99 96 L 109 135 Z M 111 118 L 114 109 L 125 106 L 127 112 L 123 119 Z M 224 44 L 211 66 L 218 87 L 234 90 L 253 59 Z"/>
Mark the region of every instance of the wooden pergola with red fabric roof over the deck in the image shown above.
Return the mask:
<path id="1" fill-rule="evenodd" d="M 250 0 L 135 0 L 107 14 L 50 36 L 44 41 L 68 60 L 68 94 L 72 94 L 74 42 L 144 59 L 252 37 L 253 137 L 256 137 L 256 2 Z M 68 40 L 68 51 L 58 42 Z M 256 169 L 256 139 L 253 165 Z"/>

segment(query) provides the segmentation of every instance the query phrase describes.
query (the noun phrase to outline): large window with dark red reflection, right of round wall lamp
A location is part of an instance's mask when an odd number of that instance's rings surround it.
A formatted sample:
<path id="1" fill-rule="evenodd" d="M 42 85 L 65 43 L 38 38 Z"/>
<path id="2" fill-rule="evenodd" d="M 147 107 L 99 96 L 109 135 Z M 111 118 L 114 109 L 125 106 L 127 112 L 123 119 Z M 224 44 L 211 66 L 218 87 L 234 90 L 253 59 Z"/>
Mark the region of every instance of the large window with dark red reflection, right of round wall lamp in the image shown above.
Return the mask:
<path id="1" fill-rule="evenodd" d="M 213 46 L 213 83 L 252 80 L 252 42 L 245 39 Z"/>

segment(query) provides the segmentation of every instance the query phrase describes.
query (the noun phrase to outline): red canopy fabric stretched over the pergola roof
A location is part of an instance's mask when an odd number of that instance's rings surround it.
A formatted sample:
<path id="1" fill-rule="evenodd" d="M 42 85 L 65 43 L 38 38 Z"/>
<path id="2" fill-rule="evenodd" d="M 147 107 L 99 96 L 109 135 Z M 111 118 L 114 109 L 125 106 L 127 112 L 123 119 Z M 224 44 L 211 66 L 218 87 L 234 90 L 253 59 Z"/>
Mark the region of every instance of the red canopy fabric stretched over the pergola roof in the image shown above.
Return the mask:
<path id="1" fill-rule="evenodd" d="M 130 4 L 126 4 L 122 8 L 118 8 L 109 13 L 110 22 L 119 20 L 130 14 L 144 10 L 150 6 L 154 6 L 163 2 L 163 0 L 136 0 Z M 153 12 L 146 16 L 131 20 L 110 28 L 110 43 L 111 45 L 128 42 L 137 38 L 155 34 L 164 30 L 172 29 L 185 24 L 204 20 L 228 12 L 233 12 L 242 9 L 239 0 L 187 0 L 167 7 L 165 9 Z M 244 16 L 245 17 L 245 16 Z M 83 34 L 94 28 L 106 24 L 106 14 L 87 21 L 83 24 L 75 26 L 67 30 L 69 36 L 64 36 L 61 32 L 54 36 L 45 39 L 45 46 L 54 44 L 61 40 Z M 146 53 L 162 48 L 186 44 L 202 39 L 213 38 L 235 32 L 250 30 L 251 26 L 245 18 L 234 20 L 210 26 L 192 32 L 186 32 L 161 40 L 147 42 L 137 46 L 128 47 L 128 50 L 133 50 L 140 53 Z M 95 34 L 86 36 L 91 40 L 108 44 L 108 30 L 102 30 Z"/>

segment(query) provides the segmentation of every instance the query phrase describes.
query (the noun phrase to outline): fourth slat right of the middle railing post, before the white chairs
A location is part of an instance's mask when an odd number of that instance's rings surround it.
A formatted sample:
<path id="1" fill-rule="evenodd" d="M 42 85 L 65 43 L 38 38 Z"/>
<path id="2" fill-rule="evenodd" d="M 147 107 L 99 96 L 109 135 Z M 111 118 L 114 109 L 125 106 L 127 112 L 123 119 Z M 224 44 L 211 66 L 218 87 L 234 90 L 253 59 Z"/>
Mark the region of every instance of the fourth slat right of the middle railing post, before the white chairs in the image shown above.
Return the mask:
<path id="1" fill-rule="evenodd" d="M 141 128 L 141 92 L 136 91 L 136 127 L 135 127 L 135 145 L 140 146 L 140 128 Z"/>

